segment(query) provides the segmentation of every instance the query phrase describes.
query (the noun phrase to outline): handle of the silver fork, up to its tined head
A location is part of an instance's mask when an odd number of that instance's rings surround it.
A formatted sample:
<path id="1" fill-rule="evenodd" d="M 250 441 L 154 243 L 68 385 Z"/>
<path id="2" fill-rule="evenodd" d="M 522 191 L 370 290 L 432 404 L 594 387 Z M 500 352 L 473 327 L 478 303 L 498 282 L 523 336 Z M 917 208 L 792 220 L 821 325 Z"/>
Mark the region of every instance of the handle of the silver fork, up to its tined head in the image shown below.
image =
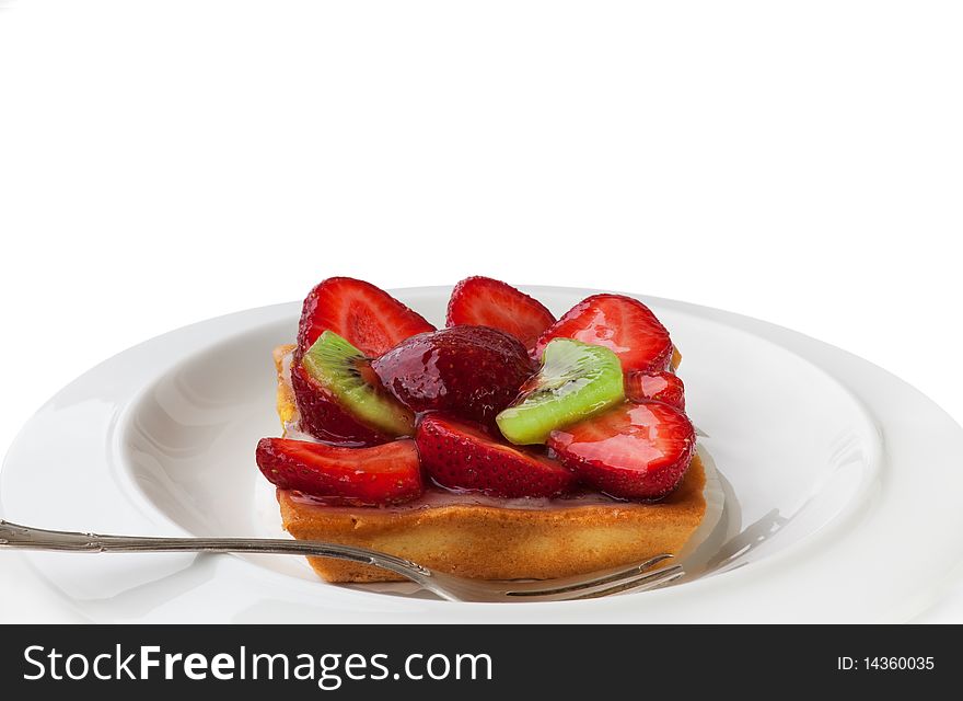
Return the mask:
<path id="1" fill-rule="evenodd" d="M 149 538 L 100 536 L 69 530 L 45 530 L 0 519 L 0 549 L 57 552 L 220 552 L 306 555 L 349 560 L 390 570 L 425 584 L 431 573 L 409 560 L 383 552 L 317 540 L 267 538 Z"/>

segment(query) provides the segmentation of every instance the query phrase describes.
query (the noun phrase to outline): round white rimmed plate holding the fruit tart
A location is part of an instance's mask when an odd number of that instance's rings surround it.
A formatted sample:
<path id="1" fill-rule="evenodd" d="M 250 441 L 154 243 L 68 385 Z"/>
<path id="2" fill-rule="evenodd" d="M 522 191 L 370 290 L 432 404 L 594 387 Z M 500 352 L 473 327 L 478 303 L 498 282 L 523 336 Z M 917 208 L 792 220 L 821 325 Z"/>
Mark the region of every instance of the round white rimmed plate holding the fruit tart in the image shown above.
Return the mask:
<path id="1" fill-rule="evenodd" d="M 593 290 L 530 288 L 561 313 Z M 439 323 L 450 288 L 395 294 Z M 96 621 L 903 621 L 963 563 L 963 429 L 919 392 L 792 331 L 641 298 L 682 349 L 686 403 L 723 475 L 712 555 L 684 584 L 560 604 L 451 604 L 320 583 L 300 559 L 36 553 Z M 277 435 L 271 348 L 300 306 L 181 329 L 103 363 L 24 427 L 4 518 L 138 535 L 276 536 L 254 446 Z M 721 541 L 726 542 L 721 542 Z M 705 550 L 705 549 L 704 549 Z M 959 570 L 956 570 L 959 572 Z"/>

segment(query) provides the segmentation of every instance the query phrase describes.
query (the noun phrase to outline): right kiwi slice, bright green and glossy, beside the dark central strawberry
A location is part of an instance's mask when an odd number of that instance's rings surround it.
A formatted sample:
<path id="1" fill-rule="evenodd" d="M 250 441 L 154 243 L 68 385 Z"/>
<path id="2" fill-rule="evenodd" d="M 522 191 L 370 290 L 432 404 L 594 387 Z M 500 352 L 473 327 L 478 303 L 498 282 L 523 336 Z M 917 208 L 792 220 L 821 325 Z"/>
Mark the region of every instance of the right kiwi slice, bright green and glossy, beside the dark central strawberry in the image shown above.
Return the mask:
<path id="1" fill-rule="evenodd" d="M 555 338 L 542 369 L 495 421 L 513 444 L 545 443 L 556 428 L 588 418 L 625 400 L 622 364 L 608 348 Z"/>

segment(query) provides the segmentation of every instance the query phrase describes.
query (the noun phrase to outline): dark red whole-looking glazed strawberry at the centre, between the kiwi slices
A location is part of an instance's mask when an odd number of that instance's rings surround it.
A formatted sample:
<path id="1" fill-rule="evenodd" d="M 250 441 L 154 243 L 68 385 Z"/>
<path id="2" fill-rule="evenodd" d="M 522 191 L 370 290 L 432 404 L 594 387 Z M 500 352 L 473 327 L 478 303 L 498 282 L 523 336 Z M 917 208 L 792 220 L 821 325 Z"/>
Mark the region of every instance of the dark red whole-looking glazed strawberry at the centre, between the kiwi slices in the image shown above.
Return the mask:
<path id="1" fill-rule="evenodd" d="M 518 338 L 487 326 L 452 326 L 413 336 L 371 367 L 411 411 L 444 411 L 483 424 L 491 424 L 535 371 Z"/>

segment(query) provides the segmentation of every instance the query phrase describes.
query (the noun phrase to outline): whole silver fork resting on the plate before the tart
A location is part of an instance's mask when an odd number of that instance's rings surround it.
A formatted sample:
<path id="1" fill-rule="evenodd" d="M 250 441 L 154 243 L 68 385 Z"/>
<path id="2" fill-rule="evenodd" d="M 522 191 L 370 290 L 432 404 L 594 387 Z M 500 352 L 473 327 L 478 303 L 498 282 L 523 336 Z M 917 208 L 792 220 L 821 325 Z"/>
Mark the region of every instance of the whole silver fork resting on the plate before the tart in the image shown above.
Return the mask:
<path id="1" fill-rule="evenodd" d="M 390 570 L 449 601 L 565 601 L 622 591 L 643 591 L 669 584 L 683 574 L 681 565 L 652 570 L 672 555 L 662 554 L 631 566 L 538 582 L 469 579 L 388 555 L 387 553 L 316 540 L 257 538 L 144 538 L 98 536 L 80 531 L 44 530 L 0 520 L 0 549 L 58 552 L 221 552 L 310 555 L 349 560 Z"/>

